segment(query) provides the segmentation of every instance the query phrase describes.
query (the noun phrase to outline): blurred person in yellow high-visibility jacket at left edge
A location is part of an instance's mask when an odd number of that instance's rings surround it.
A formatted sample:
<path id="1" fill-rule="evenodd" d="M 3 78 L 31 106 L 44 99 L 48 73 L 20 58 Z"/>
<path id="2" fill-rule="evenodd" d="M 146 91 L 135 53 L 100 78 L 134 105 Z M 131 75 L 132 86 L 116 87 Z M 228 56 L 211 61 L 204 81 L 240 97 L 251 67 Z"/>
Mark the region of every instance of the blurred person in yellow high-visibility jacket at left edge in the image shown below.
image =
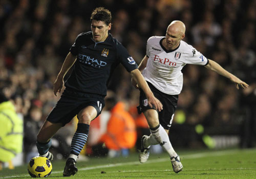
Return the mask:
<path id="1" fill-rule="evenodd" d="M 0 170 L 3 163 L 9 162 L 9 168 L 13 169 L 11 160 L 23 148 L 23 120 L 15 111 L 15 107 L 0 91 Z"/>

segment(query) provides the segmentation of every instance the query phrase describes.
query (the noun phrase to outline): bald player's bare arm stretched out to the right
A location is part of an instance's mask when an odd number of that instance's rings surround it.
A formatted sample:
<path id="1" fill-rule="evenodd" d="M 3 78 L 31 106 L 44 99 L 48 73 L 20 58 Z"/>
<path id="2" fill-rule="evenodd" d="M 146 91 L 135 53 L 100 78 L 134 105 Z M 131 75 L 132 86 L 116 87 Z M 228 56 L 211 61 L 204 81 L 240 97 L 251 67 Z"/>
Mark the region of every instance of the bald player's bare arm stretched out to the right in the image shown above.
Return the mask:
<path id="1" fill-rule="evenodd" d="M 237 89 L 239 89 L 239 86 L 241 86 L 242 88 L 246 88 L 249 86 L 246 82 L 240 80 L 238 77 L 223 69 L 222 66 L 215 61 L 209 59 L 209 63 L 205 66 L 205 68 L 215 71 L 218 74 L 230 79 L 232 82 L 236 83 Z"/>

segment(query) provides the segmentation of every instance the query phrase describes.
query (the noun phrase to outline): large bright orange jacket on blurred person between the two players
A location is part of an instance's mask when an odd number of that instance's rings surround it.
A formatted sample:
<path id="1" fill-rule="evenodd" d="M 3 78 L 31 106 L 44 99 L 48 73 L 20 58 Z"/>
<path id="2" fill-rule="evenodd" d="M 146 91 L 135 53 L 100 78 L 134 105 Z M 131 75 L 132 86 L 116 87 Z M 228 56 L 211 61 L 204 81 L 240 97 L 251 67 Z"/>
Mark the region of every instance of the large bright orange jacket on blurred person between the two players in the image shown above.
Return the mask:
<path id="1" fill-rule="evenodd" d="M 109 149 L 120 150 L 135 146 L 137 139 L 135 121 L 124 106 L 123 102 L 118 102 L 113 107 L 106 133 L 100 139 Z"/>

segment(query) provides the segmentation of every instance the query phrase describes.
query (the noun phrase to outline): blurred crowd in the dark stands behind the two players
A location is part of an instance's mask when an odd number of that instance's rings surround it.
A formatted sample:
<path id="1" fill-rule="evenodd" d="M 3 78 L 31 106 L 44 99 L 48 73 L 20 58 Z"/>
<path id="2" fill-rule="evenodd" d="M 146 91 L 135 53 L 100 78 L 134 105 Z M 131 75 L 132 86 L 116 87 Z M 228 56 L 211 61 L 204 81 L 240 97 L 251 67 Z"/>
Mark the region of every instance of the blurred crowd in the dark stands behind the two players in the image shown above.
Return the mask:
<path id="1" fill-rule="evenodd" d="M 187 43 L 250 85 L 238 91 L 228 79 L 203 66 L 186 65 L 184 86 L 170 129 L 174 147 L 214 148 L 218 139 L 222 145 L 233 139 L 233 143 L 241 147 L 255 147 L 255 0 L 2 0 L 0 89 L 11 99 L 24 121 L 25 153 L 35 149 L 39 127 L 59 99 L 53 94 L 53 83 L 63 60 L 76 36 L 90 31 L 91 12 L 101 6 L 112 12 L 110 33 L 138 64 L 146 53 L 147 39 L 153 35 L 165 36 L 171 21 L 182 20 L 186 25 L 184 40 Z M 131 85 L 130 74 L 121 65 L 109 89 L 133 117 L 139 139 L 148 132 L 145 124 L 139 122 L 144 119 L 135 108 L 139 91 Z M 106 107 L 105 110 L 111 109 Z M 73 136 L 72 124 L 63 132 L 69 131 Z M 217 136 L 215 143 L 210 138 L 214 135 Z M 224 142 L 220 138 L 223 135 Z M 70 141 L 66 137 L 60 142 L 61 131 L 59 136 L 56 143 L 68 147 Z M 91 132 L 90 136 L 97 134 Z M 61 148 L 68 152 L 67 147 Z"/>

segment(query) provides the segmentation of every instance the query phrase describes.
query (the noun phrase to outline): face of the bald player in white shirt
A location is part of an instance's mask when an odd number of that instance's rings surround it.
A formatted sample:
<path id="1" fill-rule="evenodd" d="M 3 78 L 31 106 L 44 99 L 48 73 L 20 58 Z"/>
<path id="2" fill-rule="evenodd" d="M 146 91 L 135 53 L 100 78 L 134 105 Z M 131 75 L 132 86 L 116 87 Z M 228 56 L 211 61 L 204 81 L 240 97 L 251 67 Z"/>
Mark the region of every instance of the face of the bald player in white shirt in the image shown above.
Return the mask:
<path id="1" fill-rule="evenodd" d="M 166 31 L 165 46 L 167 50 L 176 49 L 180 41 L 185 37 L 180 31 L 175 31 L 172 28 L 168 28 Z"/>

